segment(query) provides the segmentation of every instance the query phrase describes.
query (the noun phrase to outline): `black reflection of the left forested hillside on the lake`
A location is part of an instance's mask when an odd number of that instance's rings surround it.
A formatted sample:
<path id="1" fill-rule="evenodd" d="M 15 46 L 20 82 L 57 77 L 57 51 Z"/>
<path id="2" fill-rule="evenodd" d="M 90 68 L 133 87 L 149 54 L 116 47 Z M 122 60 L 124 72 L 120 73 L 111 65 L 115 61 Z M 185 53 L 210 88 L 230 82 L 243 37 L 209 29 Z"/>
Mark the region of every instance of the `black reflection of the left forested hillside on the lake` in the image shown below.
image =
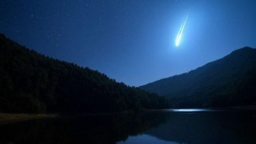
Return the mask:
<path id="1" fill-rule="evenodd" d="M 45 118 L 0 125 L 0 143 L 116 143 L 167 120 L 164 112 Z"/>

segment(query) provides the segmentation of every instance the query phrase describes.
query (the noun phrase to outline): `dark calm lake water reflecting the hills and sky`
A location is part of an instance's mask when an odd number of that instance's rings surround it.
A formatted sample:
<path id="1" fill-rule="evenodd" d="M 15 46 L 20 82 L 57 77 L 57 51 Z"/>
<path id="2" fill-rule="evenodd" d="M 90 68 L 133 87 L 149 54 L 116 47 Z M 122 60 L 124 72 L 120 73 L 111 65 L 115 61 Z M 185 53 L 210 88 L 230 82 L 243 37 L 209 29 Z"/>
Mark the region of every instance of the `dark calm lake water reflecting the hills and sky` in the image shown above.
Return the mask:
<path id="1" fill-rule="evenodd" d="M 256 111 L 150 111 L 0 124 L 0 144 L 256 143 Z"/>

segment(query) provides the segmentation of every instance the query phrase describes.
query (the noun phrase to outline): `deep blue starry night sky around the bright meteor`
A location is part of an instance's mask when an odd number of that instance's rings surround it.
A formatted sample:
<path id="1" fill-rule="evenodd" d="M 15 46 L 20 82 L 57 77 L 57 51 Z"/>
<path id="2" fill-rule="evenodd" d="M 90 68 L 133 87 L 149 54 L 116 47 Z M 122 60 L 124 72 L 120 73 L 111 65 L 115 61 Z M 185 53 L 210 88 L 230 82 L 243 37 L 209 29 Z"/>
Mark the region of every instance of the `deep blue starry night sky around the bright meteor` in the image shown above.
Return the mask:
<path id="1" fill-rule="evenodd" d="M 256 47 L 256 1 L 0 0 L 0 33 L 140 86 Z"/>

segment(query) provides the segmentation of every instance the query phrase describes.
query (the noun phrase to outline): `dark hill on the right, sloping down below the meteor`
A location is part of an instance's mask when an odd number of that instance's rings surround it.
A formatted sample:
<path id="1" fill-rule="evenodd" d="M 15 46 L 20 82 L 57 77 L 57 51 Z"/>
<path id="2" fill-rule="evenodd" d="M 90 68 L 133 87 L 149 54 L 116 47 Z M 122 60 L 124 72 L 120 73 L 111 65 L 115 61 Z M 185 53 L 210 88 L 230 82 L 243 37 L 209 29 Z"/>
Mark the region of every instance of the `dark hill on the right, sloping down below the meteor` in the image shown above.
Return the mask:
<path id="1" fill-rule="evenodd" d="M 235 50 L 189 73 L 140 88 L 167 96 L 172 108 L 256 105 L 256 49 Z"/>

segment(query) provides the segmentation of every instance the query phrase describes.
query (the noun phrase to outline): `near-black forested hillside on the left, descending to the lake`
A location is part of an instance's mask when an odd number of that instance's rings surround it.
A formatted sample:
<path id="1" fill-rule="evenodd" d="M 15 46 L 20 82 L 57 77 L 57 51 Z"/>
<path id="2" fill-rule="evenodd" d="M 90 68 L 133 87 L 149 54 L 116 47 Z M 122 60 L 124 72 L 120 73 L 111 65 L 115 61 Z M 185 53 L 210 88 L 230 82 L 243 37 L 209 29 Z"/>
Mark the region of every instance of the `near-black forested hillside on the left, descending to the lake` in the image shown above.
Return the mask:
<path id="1" fill-rule="evenodd" d="M 113 112 L 168 108 L 157 94 L 43 56 L 0 35 L 0 112 Z"/>

